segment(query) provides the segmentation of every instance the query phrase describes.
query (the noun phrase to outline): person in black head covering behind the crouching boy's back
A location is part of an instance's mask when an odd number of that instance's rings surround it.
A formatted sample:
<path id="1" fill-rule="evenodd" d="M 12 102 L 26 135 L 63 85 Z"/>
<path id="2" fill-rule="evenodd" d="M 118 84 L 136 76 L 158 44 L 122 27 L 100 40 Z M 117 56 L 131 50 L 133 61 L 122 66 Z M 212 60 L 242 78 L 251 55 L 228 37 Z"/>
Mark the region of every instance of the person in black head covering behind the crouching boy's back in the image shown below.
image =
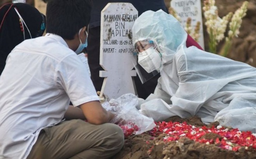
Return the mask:
<path id="1" fill-rule="evenodd" d="M 5 60 L 19 43 L 42 36 L 45 16 L 26 3 L 6 3 L 0 7 L 0 75 Z"/>

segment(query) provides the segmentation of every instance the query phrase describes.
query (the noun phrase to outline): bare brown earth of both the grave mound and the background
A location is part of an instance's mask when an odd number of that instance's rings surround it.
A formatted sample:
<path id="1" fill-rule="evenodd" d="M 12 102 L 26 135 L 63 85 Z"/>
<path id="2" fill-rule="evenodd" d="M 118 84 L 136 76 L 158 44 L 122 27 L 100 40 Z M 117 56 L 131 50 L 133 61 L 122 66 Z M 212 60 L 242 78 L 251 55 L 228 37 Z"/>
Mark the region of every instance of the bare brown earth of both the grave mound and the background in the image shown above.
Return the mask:
<path id="1" fill-rule="evenodd" d="M 223 17 L 228 12 L 235 12 L 244 0 L 215 0 L 218 7 L 219 16 Z M 166 6 L 170 6 L 170 0 L 165 0 Z M 203 5 L 203 0 L 201 0 Z M 251 66 L 256 66 L 256 0 L 248 0 L 248 10 L 243 18 L 239 37 L 233 40 L 233 46 L 228 54 L 228 58 L 246 62 Z M 204 18 L 203 18 L 204 19 Z M 208 34 L 204 28 L 205 50 L 208 50 Z M 222 43 L 218 46 L 221 50 Z M 194 126 L 204 126 L 200 118 L 192 117 L 181 119 L 173 117 L 168 121 L 186 121 Z M 208 127 L 217 126 L 212 123 Z M 188 138 L 180 138 L 178 142 L 163 142 L 164 134 L 152 138 L 146 132 L 141 135 L 129 137 L 125 140 L 123 149 L 113 159 L 256 159 L 256 151 L 253 148 L 247 150 L 240 149 L 235 152 L 224 150 L 214 144 L 198 143 Z M 205 138 L 215 139 L 215 134 L 205 135 Z"/>

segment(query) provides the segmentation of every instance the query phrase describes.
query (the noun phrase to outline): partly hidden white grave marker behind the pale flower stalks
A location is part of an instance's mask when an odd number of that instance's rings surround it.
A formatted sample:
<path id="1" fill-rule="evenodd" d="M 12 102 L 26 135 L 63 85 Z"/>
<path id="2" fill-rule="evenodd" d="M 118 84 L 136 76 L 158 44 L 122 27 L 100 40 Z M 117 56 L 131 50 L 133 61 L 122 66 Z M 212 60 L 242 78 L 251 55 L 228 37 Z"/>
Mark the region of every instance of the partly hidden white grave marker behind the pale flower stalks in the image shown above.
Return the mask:
<path id="1" fill-rule="evenodd" d="M 188 17 L 192 19 L 191 26 L 195 28 L 197 21 L 201 23 L 199 45 L 204 49 L 204 32 L 202 29 L 202 7 L 201 0 L 171 0 L 171 7 L 177 12 L 182 20 L 182 25 L 185 26 Z"/>

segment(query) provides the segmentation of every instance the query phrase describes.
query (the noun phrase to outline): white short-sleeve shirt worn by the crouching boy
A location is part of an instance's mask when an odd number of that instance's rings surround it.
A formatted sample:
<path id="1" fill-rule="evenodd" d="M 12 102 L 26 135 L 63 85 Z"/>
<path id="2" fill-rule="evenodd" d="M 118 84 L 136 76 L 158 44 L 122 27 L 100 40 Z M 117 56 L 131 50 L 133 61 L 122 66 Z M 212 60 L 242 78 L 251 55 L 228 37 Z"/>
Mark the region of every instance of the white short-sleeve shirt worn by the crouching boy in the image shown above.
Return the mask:
<path id="1" fill-rule="evenodd" d="M 25 40 L 0 76 L 0 159 L 26 159 L 42 128 L 59 123 L 69 101 L 99 100 L 80 58 L 57 35 Z"/>

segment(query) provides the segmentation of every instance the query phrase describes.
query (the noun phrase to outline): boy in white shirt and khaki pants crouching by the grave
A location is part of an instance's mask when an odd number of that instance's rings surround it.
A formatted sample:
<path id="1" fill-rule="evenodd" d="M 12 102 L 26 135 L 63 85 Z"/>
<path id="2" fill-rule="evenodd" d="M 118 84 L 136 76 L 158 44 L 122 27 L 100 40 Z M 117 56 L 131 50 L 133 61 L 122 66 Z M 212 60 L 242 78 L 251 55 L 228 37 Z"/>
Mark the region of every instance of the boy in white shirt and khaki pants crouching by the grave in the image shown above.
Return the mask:
<path id="1" fill-rule="evenodd" d="M 47 34 L 8 55 L 0 76 L 1 159 L 109 159 L 122 148 L 123 131 L 110 123 L 114 114 L 76 54 L 86 47 L 90 11 L 90 0 L 49 0 Z"/>

